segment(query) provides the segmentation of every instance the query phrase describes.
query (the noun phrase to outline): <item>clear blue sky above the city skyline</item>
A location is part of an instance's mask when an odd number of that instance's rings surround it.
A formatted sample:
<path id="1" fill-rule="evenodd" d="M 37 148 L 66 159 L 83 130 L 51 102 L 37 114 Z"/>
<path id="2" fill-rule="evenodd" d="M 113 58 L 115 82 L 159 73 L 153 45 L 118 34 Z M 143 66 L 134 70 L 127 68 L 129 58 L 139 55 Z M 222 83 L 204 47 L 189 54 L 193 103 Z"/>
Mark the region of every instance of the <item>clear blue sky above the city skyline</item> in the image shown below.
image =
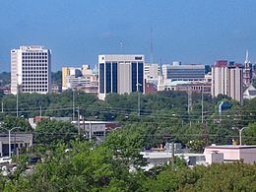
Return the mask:
<path id="1" fill-rule="evenodd" d="M 0 72 L 32 44 L 51 49 L 52 71 L 95 67 L 98 54 L 150 62 L 151 42 L 158 63 L 243 63 L 246 49 L 256 62 L 255 18 L 255 0 L 0 0 Z"/>

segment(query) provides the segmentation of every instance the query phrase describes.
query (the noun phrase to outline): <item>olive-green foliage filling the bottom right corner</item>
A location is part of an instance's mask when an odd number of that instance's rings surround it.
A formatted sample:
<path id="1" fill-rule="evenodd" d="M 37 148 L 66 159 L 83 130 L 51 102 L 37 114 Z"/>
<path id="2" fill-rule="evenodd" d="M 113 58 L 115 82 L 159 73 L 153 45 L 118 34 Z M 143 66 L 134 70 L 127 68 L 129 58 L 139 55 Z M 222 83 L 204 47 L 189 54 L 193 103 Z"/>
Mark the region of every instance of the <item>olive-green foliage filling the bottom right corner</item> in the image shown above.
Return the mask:
<path id="1" fill-rule="evenodd" d="M 145 191 L 254 191 L 256 165 L 242 163 L 170 167 L 144 183 Z"/>

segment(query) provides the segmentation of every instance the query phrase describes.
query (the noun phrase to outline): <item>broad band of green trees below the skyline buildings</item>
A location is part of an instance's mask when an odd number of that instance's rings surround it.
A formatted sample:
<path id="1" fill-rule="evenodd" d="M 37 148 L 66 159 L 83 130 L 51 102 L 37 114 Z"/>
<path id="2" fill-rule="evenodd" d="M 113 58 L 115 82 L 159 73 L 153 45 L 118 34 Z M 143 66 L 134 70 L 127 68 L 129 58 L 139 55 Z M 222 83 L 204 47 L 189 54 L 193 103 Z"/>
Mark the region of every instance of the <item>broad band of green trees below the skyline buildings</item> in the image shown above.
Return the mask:
<path id="1" fill-rule="evenodd" d="M 201 94 L 192 96 L 192 110 L 187 110 L 187 94 L 184 92 L 160 92 L 158 95 L 138 94 L 109 95 L 98 100 L 95 95 L 66 91 L 60 95 L 19 95 L 19 119 L 16 119 L 16 96 L 2 96 L 4 112 L 1 121 L 8 121 L 9 127 L 24 126 L 31 130 L 24 118 L 35 115 L 75 116 L 85 120 L 116 120 L 125 130 L 133 130 L 144 136 L 146 148 L 160 143 L 175 141 L 190 145 L 196 152 L 202 152 L 210 144 L 232 144 L 238 141 L 238 131 L 232 127 L 247 127 L 243 131 L 244 144 L 256 144 L 256 98 L 245 100 L 242 106 L 226 96 L 212 98 L 204 95 L 203 118 Z M 221 101 L 229 101 L 231 108 L 219 114 Z M 73 105 L 74 104 L 74 105 Z M 23 118 L 21 118 L 23 117 Z M 20 123 L 15 123 L 16 120 Z M 27 127 L 26 127 L 27 126 Z"/>

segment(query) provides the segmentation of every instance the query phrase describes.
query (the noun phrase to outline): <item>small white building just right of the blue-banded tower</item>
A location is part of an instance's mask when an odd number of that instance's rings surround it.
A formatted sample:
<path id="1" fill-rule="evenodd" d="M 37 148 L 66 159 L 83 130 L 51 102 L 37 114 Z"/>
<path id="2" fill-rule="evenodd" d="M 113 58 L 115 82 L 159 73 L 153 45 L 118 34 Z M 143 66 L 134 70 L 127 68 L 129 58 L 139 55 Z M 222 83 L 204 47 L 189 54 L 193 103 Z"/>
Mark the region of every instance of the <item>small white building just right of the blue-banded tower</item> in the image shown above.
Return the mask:
<path id="1" fill-rule="evenodd" d="M 144 78 L 145 80 L 158 80 L 160 75 L 160 65 L 158 63 L 144 64 Z"/>

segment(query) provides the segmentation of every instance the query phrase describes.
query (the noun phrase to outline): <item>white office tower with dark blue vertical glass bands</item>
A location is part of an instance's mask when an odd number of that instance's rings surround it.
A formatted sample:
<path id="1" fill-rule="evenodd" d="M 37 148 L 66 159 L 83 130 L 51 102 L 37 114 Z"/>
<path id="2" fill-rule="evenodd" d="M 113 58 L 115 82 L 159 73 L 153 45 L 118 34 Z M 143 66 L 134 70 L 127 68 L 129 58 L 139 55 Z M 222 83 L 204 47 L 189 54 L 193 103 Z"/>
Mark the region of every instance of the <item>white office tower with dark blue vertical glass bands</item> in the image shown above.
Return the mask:
<path id="1" fill-rule="evenodd" d="M 98 55 L 98 97 L 144 93 L 144 55 Z"/>

